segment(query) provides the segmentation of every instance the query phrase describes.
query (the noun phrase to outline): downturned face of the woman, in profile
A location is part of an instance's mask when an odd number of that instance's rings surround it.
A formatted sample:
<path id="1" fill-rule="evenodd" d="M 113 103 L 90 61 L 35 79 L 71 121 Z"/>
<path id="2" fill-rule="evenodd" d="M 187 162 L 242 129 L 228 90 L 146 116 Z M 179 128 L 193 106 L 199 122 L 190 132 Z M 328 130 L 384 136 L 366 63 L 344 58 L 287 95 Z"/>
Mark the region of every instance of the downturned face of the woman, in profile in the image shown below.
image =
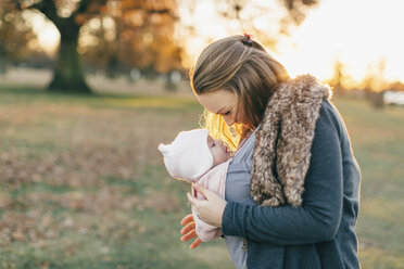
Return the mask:
<path id="1" fill-rule="evenodd" d="M 198 101 L 207 111 L 223 116 L 228 126 L 245 124 L 239 97 L 228 90 L 216 90 L 197 95 Z"/>

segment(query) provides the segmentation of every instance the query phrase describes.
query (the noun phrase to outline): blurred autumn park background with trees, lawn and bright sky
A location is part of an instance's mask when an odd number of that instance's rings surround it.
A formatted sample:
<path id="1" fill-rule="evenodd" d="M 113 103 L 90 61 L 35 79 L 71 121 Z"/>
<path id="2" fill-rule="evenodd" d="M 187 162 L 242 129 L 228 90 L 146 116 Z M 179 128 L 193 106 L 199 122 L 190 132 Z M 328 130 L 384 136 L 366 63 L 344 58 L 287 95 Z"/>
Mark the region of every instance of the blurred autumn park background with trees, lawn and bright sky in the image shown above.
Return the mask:
<path id="1" fill-rule="evenodd" d="M 363 172 L 363 268 L 404 268 L 404 3 L 0 1 L 0 268 L 233 268 L 190 251 L 157 144 L 199 126 L 188 71 L 252 34 L 333 88 Z"/>

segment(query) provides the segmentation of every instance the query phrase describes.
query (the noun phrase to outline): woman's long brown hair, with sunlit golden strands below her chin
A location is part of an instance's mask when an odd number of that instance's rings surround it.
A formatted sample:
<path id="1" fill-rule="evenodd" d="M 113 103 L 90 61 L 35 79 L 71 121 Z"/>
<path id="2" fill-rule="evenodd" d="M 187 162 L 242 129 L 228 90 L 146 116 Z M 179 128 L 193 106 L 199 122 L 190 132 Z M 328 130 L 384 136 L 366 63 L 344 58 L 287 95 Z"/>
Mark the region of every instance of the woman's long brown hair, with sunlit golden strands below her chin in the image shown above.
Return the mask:
<path id="1" fill-rule="evenodd" d="M 247 126 L 235 124 L 231 129 L 222 115 L 207 110 L 202 123 L 212 137 L 224 140 L 232 150 L 240 138 L 260 125 L 277 85 L 289 79 L 279 62 L 258 42 L 247 38 L 230 36 L 209 44 L 190 71 L 191 87 L 197 95 L 228 90 L 239 97 Z"/>

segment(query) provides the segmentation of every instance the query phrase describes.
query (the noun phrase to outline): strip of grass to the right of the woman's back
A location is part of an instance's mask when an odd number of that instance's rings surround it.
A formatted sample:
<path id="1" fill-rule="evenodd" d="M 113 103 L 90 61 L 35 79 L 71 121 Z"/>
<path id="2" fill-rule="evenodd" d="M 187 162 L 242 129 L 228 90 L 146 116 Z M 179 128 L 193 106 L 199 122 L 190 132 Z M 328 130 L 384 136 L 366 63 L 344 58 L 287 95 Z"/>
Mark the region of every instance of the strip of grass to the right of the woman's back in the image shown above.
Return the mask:
<path id="1" fill-rule="evenodd" d="M 357 222 L 363 268 L 404 268 L 404 107 L 337 100 L 362 169 Z"/>

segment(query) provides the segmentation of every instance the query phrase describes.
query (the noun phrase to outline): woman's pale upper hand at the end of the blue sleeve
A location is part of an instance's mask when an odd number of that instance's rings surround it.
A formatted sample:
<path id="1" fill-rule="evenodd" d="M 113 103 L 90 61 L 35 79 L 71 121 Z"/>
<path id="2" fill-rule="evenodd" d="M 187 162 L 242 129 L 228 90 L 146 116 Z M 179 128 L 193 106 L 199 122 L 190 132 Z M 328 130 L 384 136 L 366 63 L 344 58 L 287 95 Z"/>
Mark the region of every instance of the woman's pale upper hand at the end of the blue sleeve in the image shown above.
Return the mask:
<path id="1" fill-rule="evenodd" d="M 226 201 L 202 185 L 193 184 L 193 189 L 206 198 L 198 200 L 192 197 L 190 193 L 187 193 L 188 200 L 198 217 L 211 226 L 222 227 L 222 216 L 225 212 Z"/>

